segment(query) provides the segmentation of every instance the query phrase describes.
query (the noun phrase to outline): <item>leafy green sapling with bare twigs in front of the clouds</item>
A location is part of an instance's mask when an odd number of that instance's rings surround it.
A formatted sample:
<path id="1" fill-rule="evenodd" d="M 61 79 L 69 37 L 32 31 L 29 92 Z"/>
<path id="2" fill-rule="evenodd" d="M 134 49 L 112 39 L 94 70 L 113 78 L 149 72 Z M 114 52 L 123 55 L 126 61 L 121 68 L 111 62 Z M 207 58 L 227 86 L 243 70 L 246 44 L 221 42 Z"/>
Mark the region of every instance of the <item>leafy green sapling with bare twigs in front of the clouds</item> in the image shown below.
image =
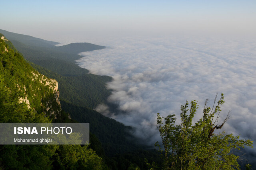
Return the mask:
<path id="1" fill-rule="evenodd" d="M 221 94 L 217 101 L 217 95 L 213 107 L 207 107 L 208 99 L 204 104 L 203 117 L 192 124 L 198 105 L 196 100 L 188 102 L 180 107 L 181 123 L 175 125 L 176 117 L 170 114 L 167 117 L 157 113 L 158 130 L 162 139 L 162 145 L 156 142 L 164 156 L 163 169 L 239 169 L 240 156 L 234 154 L 244 146 L 252 147 L 252 141 L 239 139 L 233 134 L 227 135 L 224 131 L 214 133 L 221 129 L 230 119 L 230 111 L 220 125 L 220 105 L 224 104 L 224 96 Z M 160 148 L 160 147 L 163 147 Z"/>

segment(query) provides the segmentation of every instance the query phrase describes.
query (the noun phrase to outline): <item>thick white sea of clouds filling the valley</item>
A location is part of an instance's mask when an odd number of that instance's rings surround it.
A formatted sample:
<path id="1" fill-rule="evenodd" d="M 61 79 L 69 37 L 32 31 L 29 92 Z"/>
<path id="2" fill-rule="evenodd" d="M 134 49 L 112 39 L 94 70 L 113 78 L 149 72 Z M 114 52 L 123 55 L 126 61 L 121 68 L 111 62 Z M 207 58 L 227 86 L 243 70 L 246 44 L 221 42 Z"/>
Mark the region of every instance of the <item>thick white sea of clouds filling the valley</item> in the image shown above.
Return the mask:
<path id="1" fill-rule="evenodd" d="M 156 113 L 175 113 L 180 105 L 197 100 L 195 121 L 202 117 L 207 98 L 212 107 L 216 93 L 224 94 L 221 130 L 256 141 L 256 41 L 226 37 L 164 37 L 108 39 L 106 49 L 84 52 L 78 64 L 93 74 L 114 78 L 108 101 L 116 112 L 101 104 L 95 108 L 124 125 L 134 135 L 154 145 L 160 141 Z M 100 44 L 102 45 L 102 44 Z M 218 133 L 218 131 L 216 131 Z"/>

